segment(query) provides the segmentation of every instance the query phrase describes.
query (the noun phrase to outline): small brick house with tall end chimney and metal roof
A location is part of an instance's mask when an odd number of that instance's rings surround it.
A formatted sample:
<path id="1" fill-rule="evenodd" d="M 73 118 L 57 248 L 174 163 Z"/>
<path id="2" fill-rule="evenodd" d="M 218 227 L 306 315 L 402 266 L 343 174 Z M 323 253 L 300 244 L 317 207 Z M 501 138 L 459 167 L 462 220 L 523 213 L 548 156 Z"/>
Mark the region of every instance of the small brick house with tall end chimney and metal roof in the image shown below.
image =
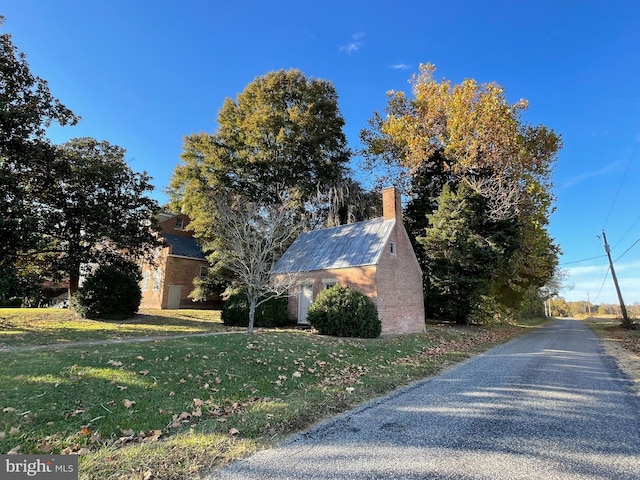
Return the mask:
<path id="1" fill-rule="evenodd" d="M 402 223 L 400 192 L 382 192 L 383 216 L 300 235 L 273 268 L 295 274 L 292 320 L 306 323 L 309 305 L 335 284 L 359 290 L 376 305 L 382 334 L 425 329 L 422 270 Z"/>

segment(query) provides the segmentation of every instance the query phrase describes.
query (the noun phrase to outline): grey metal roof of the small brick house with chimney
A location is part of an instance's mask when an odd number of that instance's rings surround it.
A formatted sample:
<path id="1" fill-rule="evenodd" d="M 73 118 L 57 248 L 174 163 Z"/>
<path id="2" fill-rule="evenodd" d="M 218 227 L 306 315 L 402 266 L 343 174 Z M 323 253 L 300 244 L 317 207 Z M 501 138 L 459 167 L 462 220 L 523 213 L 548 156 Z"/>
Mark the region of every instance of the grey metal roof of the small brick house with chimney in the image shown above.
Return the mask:
<path id="1" fill-rule="evenodd" d="M 276 262 L 272 273 L 376 265 L 395 223 L 376 218 L 303 233 Z"/>

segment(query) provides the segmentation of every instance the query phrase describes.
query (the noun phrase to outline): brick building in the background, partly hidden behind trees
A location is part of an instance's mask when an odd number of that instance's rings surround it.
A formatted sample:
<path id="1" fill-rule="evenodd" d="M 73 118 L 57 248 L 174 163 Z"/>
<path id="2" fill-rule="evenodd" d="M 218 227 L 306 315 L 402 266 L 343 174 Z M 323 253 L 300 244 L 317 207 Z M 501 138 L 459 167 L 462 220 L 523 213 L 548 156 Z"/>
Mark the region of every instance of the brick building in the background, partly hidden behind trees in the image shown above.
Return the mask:
<path id="1" fill-rule="evenodd" d="M 194 302 L 189 298 L 196 277 L 206 277 L 209 263 L 190 231 L 189 217 L 161 213 L 158 218 L 165 247 L 155 258 L 155 265 L 143 264 L 141 308 L 177 309 L 211 308 L 219 299 Z"/>

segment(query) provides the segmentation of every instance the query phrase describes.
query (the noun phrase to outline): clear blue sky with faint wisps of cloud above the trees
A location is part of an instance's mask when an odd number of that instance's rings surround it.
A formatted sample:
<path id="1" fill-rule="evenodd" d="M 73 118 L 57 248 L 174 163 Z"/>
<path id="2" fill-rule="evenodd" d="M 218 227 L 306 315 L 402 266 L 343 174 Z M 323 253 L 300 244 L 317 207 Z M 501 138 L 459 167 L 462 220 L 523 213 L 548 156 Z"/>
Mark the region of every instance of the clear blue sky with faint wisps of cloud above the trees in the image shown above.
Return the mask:
<path id="1" fill-rule="evenodd" d="M 454 83 L 495 81 L 529 100 L 523 121 L 564 140 L 549 226 L 572 286 L 563 296 L 617 301 L 604 229 L 625 301 L 640 302 L 640 2 L 4 0 L 0 14 L 82 117 L 50 138 L 124 147 L 160 202 L 183 137 L 214 131 L 224 99 L 270 71 L 333 82 L 353 148 L 420 63 Z"/>

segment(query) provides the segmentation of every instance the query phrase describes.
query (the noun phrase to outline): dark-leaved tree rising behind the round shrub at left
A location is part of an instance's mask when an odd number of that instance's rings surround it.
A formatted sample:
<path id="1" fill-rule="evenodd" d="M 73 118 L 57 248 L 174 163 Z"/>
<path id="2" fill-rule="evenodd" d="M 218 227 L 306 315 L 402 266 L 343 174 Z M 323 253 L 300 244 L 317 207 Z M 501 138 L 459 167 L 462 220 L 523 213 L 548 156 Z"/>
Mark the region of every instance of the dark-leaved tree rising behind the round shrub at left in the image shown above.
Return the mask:
<path id="1" fill-rule="evenodd" d="M 140 257 L 158 246 L 151 225 L 158 211 L 146 173 L 125 162 L 125 150 L 106 141 L 76 138 L 59 147 L 42 196 L 38 245 L 25 254 L 78 287 L 83 264 L 98 263 L 105 249 Z"/>

